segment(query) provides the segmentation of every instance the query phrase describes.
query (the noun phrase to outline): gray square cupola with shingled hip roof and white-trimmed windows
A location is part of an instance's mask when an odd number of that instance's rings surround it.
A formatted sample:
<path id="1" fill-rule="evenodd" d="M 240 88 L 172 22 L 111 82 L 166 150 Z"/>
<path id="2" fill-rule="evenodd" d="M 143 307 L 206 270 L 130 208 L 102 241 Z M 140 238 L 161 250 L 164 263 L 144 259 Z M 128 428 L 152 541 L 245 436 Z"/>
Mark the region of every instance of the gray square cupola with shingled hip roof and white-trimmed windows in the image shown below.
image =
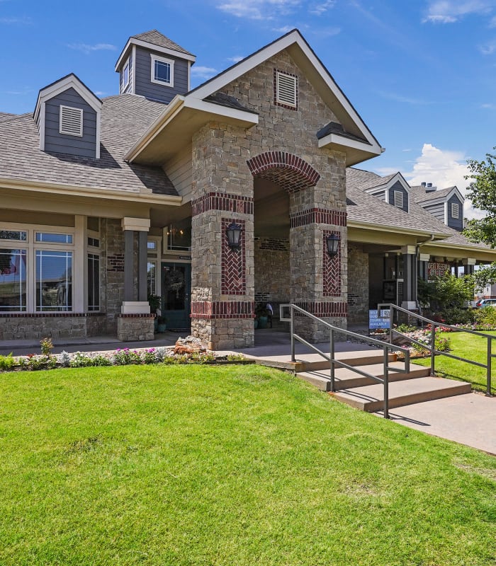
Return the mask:
<path id="1" fill-rule="evenodd" d="M 195 61 L 193 54 L 157 30 L 133 35 L 115 64 L 119 93 L 168 104 L 177 94 L 189 91 L 191 65 Z"/>

